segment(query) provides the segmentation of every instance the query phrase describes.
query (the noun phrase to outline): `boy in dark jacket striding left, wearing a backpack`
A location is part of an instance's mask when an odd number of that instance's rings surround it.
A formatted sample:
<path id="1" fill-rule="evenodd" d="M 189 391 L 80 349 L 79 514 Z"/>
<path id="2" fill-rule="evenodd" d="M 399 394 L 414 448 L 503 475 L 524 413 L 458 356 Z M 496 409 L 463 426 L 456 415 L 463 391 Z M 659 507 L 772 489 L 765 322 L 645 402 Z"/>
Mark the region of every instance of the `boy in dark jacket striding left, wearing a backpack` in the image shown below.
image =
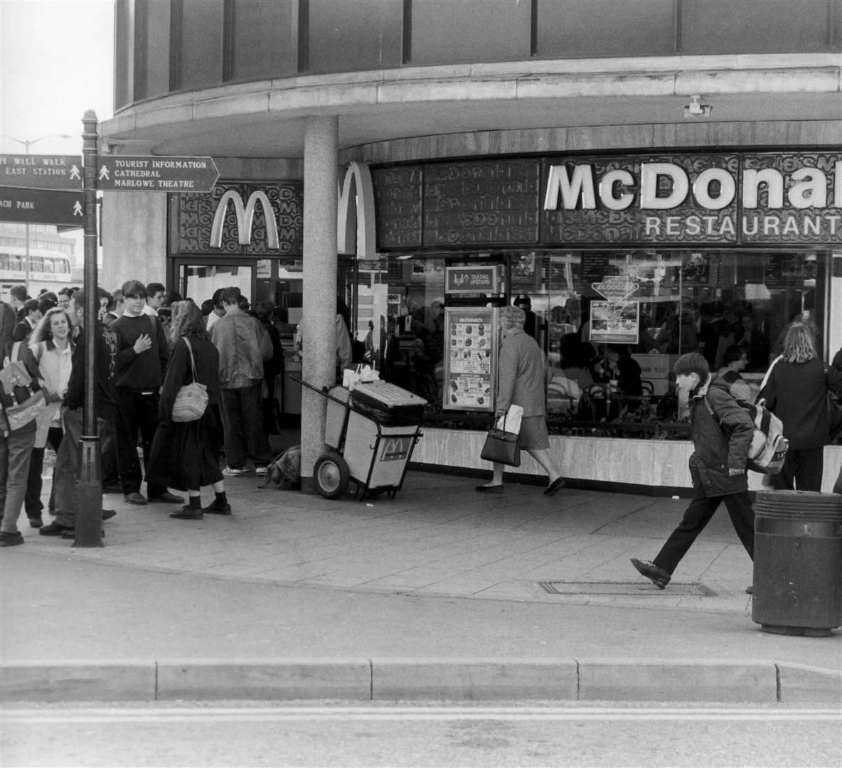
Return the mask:
<path id="1" fill-rule="evenodd" d="M 632 565 L 658 589 L 669 584 L 681 558 L 722 502 L 745 551 L 754 560 L 754 510 L 746 477 L 754 423 L 728 393 L 727 383 L 720 376 L 711 376 L 700 353 L 681 355 L 673 370 L 679 388 L 690 396 L 690 437 L 695 449 L 690 456 L 690 477 L 695 498 L 654 560 L 632 557 Z"/>

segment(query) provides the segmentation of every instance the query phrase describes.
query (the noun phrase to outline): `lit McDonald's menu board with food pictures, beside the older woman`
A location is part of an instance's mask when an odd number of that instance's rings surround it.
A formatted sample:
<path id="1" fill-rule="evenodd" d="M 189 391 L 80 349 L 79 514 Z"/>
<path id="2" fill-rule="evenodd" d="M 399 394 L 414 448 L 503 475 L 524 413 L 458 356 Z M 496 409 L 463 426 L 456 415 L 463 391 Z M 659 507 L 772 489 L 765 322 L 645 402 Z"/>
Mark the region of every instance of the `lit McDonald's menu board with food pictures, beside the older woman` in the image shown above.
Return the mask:
<path id="1" fill-rule="evenodd" d="M 496 307 L 445 309 L 443 408 L 493 412 L 497 384 Z"/>

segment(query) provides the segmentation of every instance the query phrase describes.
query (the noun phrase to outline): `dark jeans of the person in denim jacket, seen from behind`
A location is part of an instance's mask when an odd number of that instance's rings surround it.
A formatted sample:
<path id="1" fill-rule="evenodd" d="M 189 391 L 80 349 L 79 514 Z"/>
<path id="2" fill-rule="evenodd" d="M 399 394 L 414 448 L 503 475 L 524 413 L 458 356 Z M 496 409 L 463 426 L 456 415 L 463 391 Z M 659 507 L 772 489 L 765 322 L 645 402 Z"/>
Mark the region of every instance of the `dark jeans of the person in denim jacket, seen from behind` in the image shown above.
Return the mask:
<path id="1" fill-rule="evenodd" d="M 264 435 L 260 384 L 223 389 L 221 411 L 228 466 L 265 467 L 272 460 L 272 449 Z"/>

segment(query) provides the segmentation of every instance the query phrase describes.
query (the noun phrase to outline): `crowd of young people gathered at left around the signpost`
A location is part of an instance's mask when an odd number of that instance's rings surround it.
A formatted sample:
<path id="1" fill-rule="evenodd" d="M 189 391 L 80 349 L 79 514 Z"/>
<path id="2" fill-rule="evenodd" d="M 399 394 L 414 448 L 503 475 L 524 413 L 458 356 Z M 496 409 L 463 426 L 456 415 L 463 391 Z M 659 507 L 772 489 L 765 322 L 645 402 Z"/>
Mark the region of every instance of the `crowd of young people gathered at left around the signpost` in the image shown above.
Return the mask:
<path id="1" fill-rule="evenodd" d="M 272 458 L 269 434 L 277 422 L 271 401 L 283 365 L 274 307 L 264 302 L 253 311 L 237 287 L 216 291 L 200 307 L 160 283 L 139 280 L 111 294 L 98 289 L 98 299 L 93 389 L 104 491 L 122 493 L 129 504 L 179 505 L 170 513 L 178 520 L 230 515 L 224 477 L 265 474 Z M 41 536 L 75 536 L 84 323 L 80 289 L 32 299 L 24 286 L 14 286 L 10 301 L 0 301 L 2 547 L 24 543 L 21 511 Z M 176 401 L 193 382 L 206 393 L 206 405 L 200 418 L 184 421 Z M 45 524 L 47 445 L 56 461 L 47 507 L 54 520 Z M 214 498 L 203 506 L 201 489 L 208 486 Z M 103 510 L 104 520 L 113 515 Z"/>

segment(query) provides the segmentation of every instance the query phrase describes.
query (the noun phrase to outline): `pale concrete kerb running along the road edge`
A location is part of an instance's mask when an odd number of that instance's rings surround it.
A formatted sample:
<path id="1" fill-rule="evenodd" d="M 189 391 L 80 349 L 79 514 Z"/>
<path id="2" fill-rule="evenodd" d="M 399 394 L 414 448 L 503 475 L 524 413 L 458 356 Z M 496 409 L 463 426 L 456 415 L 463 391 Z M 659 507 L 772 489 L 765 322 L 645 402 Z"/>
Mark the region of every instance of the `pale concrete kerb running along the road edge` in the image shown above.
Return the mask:
<path id="1" fill-rule="evenodd" d="M 842 706 L 842 672 L 695 659 L 26 662 L 0 701 L 717 701 Z"/>

